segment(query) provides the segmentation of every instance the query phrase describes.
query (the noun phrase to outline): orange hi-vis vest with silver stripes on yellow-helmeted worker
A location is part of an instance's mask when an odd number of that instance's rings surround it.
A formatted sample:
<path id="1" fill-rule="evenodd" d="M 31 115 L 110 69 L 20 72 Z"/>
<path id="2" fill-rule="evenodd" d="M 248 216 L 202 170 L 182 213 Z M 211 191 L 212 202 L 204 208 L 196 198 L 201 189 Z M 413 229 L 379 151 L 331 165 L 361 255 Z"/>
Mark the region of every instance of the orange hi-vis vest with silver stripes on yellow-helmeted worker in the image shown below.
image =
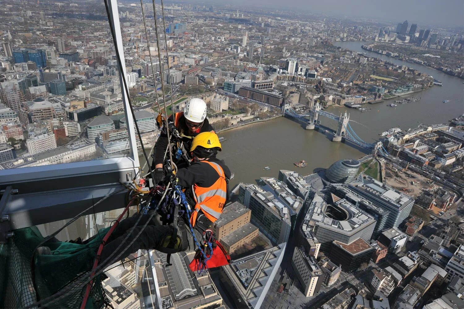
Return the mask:
<path id="1" fill-rule="evenodd" d="M 200 187 L 196 184 L 192 186 L 193 199 L 195 200 L 195 208 L 190 216 L 190 223 L 192 227 L 195 226 L 197 221 L 198 212 L 201 210 L 209 221 L 214 222 L 218 220 L 222 213 L 222 209 L 226 204 L 227 198 L 227 183 L 226 176 L 222 167 L 210 161 L 201 161 L 211 165 L 219 175 L 218 180 L 208 188 Z"/>

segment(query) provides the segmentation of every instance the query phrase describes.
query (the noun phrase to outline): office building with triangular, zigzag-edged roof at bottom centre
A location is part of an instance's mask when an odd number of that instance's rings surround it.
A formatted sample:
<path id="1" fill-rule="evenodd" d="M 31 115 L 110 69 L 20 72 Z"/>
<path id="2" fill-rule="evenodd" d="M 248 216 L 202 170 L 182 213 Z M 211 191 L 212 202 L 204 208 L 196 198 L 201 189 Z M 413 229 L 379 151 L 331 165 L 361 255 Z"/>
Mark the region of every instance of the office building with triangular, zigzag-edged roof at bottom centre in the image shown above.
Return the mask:
<path id="1" fill-rule="evenodd" d="M 226 286 L 234 308 L 261 308 L 284 258 L 286 243 L 235 259 L 220 268 L 221 282 Z"/>

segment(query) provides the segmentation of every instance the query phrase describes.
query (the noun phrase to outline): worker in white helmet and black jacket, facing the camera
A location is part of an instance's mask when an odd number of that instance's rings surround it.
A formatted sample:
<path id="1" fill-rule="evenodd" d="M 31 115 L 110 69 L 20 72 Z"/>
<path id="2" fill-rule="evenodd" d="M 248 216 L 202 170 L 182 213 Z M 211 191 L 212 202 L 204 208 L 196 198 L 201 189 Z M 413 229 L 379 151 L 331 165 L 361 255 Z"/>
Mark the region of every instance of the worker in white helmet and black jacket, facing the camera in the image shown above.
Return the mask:
<path id="1" fill-rule="evenodd" d="M 168 119 L 168 123 L 174 125 L 179 132 L 180 139 L 184 144 L 185 149 L 190 149 L 192 139 L 201 132 L 214 132 L 213 127 L 206 119 L 206 103 L 200 98 L 192 98 L 186 104 L 183 112 L 174 113 Z M 166 127 L 163 127 L 160 137 L 155 143 L 155 150 L 153 151 L 153 164 L 155 179 L 153 183 L 159 183 L 164 178 L 164 154 L 168 148 L 168 135 Z M 188 152 L 188 151 L 187 151 Z M 182 158 L 175 160 L 174 163 L 178 168 L 185 167 Z"/>

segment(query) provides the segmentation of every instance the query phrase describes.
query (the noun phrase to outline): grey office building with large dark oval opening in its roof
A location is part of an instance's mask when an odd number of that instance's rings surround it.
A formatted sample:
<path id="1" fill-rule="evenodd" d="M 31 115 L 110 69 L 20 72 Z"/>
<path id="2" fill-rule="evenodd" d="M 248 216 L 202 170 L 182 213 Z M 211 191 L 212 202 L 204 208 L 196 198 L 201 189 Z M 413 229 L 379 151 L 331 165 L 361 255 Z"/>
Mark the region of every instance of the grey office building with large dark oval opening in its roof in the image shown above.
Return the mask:
<path id="1" fill-rule="evenodd" d="M 370 241 L 375 220 L 369 214 L 345 199 L 328 204 L 321 195 L 315 194 L 309 202 L 303 225 L 312 228 L 323 251 L 329 251 L 334 240 L 345 244 L 358 238 Z"/>

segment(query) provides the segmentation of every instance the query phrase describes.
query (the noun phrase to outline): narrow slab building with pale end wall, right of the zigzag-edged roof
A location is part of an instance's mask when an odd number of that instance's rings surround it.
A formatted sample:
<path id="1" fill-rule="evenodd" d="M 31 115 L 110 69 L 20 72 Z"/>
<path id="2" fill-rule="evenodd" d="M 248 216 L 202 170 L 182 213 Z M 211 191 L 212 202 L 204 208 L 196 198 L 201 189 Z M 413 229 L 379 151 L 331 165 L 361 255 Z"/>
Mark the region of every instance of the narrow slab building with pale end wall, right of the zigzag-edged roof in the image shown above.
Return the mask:
<path id="1" fill-rule="evenodd" d="M 324 273 L 313 256 L 306 254 L 303 247 L 296 246 L 291 265 L 303 286 L 303 294 L 306 297 L 314 296 L 314 293 L 319 292 Z"/>

